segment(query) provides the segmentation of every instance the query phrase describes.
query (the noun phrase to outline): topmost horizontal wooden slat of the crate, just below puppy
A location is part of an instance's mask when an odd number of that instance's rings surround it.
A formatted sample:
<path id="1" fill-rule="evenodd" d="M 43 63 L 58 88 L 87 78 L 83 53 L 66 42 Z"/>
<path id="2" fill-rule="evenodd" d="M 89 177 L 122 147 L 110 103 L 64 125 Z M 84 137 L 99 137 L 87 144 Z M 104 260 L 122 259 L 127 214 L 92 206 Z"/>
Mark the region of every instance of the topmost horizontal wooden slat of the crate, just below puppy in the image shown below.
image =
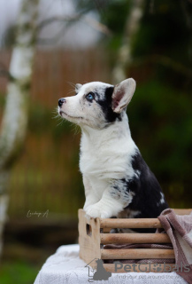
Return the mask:
<path id="1" fill-rule="evenodd" d="M 162 228 L 157 218 L 128 218 L 128 219 L 100 219 L 101 228 L 119 228 L 119 229 L 135 229 L 135 228 Z"/>

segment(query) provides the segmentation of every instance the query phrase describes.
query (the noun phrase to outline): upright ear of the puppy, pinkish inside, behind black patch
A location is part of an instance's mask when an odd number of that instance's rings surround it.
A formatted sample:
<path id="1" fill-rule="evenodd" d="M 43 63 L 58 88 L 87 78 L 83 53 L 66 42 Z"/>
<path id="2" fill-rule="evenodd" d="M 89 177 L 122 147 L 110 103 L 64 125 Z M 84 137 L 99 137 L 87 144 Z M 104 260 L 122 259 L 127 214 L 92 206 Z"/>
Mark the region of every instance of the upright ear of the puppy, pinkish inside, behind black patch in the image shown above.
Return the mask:
<path id="1" fill-rule="evenodd" d="M 114 87 L 112 93 L 112 110 L 119 114 L 125 109 L 132 99 L 136 83 L 133 78 L 122 81 Z"/>

